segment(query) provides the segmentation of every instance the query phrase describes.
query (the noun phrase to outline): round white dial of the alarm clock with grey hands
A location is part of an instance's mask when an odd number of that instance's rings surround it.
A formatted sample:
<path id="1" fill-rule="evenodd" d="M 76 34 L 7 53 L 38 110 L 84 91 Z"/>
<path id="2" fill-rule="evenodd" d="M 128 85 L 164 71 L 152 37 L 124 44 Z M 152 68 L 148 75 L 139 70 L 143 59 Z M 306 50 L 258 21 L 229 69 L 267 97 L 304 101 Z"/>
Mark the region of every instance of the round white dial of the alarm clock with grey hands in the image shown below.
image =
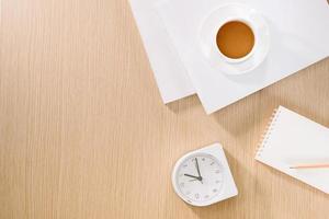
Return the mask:
<path id="1" fill-rule="evenodd" d="M 209 203 L 220 194 L 224 168 L 211 154 L 198 153 L 183 160 L 175 172 L 177 189 L 191 204 Z"/>

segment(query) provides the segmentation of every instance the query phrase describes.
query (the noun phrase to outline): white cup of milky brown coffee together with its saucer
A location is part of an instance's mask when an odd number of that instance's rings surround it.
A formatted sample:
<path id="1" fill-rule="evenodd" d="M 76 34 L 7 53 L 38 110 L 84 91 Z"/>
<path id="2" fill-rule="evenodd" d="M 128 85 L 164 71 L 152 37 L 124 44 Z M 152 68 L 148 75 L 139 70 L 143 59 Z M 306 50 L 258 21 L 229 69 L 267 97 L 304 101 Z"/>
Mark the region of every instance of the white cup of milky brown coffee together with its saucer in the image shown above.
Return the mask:
<path id="1" fill-rule="evenodd" d="M 215 9 L 198 32 L 201 57 L 218 73 L 251 72 L 270 49 L 265 19 L 245 4 L 229 3 Z"/>

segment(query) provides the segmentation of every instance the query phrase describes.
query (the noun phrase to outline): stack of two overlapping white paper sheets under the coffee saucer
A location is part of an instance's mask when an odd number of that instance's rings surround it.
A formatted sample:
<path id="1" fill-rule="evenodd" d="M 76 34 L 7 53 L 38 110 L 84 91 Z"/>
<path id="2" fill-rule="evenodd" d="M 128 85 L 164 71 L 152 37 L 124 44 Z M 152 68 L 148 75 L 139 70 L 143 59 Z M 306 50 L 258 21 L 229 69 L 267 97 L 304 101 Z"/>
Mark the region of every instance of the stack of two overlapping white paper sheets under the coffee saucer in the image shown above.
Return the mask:
<path id="1" fill-rule="evenodd" d="M 326 0 L 131 0 L 163 102 L 197 93 L 206 113 L 220 110 L 329 55 Z M 264 61 L 248 73 L 213 68 L 200 49 L 205 20 L 227 4 L 261 14 L 270 33 Z M 220 16 L 220 14 L 219 14 Z"/>

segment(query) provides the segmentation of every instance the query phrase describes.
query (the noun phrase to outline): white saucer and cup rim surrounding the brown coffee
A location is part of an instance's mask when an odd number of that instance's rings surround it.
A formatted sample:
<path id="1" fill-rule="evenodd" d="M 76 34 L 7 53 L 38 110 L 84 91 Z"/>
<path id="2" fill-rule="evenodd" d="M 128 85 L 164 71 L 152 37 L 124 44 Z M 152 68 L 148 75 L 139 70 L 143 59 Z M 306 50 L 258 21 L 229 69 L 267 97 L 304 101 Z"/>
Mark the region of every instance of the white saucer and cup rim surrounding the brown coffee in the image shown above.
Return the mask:
<path id="1" fill-rule="evenodd" d="M 225 57 L 216 44 L 222 25 L 229 21 L 242 21 L 254 34 L 252 50 L 240 59 Z M 266 57 L 270 48 L 270 31 L 263 16 L 243 4 L 226 4 L 207 15 L 200 28 L 200 48 L 212 68 L 226 74 L 242 74 L 257 68 Z"/>

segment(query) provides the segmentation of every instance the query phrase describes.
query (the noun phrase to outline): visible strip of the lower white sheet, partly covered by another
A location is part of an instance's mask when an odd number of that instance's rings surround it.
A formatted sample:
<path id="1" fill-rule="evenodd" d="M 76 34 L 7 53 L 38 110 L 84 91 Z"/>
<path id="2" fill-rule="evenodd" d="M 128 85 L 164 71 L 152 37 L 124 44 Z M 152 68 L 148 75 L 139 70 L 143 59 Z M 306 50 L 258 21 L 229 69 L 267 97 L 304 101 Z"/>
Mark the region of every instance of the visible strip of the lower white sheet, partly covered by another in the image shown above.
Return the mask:
<path id="1" fill-rule="evenodd" d="M 169 103 L 194 92 L 167 30 L 154 8 L 156 0 L 129 0 L 162 100 Z"/>

